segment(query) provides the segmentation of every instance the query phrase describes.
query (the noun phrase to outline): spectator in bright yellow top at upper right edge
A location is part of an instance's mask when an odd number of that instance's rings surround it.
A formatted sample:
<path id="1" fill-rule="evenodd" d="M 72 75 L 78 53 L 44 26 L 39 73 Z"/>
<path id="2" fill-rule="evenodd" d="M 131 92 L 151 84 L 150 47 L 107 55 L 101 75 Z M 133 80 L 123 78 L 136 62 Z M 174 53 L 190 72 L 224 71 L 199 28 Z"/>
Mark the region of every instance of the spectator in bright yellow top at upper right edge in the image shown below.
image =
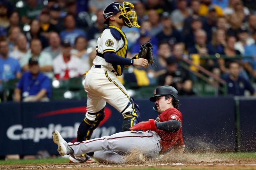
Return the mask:
<path id="1" fill-rule="evenodd" d="M 212 0 L 203 0 L 200 8 L 199 8 L 199 15 L 203 15 L 203 16 L 207 16 L 208 13 L 211 11 L 210 8 L 214 8 L 216 13 L 217 13 L 217 17 L 221 17 L 224 16 L 224 13 L 222 11 L 222 9 L 220 8 L 220 6 L 212 4 Z"/>

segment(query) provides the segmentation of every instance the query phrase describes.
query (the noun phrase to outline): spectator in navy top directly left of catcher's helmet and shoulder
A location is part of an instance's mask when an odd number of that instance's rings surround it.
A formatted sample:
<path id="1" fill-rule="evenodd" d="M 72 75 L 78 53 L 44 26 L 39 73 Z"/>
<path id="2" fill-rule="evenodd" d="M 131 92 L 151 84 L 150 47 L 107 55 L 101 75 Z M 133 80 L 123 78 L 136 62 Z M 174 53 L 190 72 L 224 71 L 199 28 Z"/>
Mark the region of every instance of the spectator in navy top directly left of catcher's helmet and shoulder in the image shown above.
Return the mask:
<path id="1" fill-rule="evenodd" d="M 96 16 L 97 16 L 97 20 L 95 22 L 95 24 L 90 27 L 87 31 L 87 40 L 93 40 L 96 41 L 97 43 L 97 39 L 100 37 L 100 34 L 102 33 L 103 28 L 106 26 L 104 24 L 104 17 L 103 17 L 103 11 L 99 10 L 96 12 Z"/>

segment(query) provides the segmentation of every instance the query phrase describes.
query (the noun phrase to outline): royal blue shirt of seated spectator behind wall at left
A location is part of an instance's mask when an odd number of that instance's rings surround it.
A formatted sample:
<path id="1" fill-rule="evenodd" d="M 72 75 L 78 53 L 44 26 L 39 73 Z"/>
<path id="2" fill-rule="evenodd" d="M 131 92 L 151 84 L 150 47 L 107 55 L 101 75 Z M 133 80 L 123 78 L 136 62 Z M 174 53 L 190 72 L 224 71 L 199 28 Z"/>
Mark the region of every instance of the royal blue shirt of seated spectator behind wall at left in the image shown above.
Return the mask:
<path id="1" fill-rule="evenodd" d="M 51 97 L 51 81 L 43 73 L 39 72 L 36 78 L 32 78 L 32 74 L 25 72 L 17 85 L 22 91 L 22 97 L 36 95 L 40 90 L 45 89 L 48 98 Z"/>

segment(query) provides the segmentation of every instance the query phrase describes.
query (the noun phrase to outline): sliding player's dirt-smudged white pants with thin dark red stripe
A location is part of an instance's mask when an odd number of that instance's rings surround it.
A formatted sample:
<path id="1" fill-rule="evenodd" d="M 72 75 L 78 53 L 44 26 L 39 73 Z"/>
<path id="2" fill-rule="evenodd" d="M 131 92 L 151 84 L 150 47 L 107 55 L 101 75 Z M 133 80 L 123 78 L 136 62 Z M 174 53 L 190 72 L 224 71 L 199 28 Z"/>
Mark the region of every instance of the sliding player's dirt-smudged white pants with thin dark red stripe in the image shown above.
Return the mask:
<path id="1" fill-rule="evenodd" d="M 126 131 L 68 145 L 74 150 L 75 155 L 94 152 L 98 160 L 122 163 L 125 162 L 123 156 L 113 151 L 129 153 L 132 149 L 138 149 L 146 157 L 156 158 L 161 150 L 160 139 L 155 131 Z"/>

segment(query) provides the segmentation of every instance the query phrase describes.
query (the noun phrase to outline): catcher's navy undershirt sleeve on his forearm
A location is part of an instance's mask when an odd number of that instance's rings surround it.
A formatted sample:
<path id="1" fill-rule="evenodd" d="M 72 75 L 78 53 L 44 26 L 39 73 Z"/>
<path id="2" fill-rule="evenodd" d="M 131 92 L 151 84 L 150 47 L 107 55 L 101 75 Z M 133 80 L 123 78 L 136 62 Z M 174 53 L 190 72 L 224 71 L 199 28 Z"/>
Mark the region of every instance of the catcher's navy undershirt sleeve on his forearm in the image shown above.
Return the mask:
<path id="1" fill-rule="evenodd" d="M 107 63 L 116 65 L 133 65 L 133 59 L 121 57 L 113 52 L 106 52 L 103 56 Z"/>

